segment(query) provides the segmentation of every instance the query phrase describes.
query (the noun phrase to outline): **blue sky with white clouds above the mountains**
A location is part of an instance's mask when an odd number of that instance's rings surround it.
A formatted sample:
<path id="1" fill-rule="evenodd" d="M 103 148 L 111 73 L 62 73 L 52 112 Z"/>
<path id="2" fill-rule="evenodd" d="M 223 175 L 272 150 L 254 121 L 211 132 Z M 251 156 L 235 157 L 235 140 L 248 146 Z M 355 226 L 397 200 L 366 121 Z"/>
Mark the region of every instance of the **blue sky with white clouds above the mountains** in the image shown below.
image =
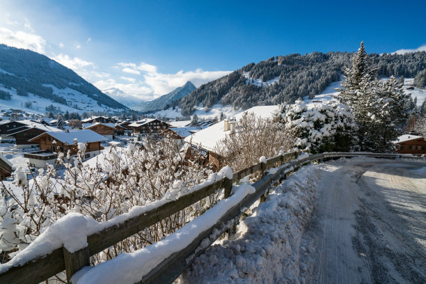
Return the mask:
<path id="1" fill-rule="evenodd" d="M 149 100 L 271 56 L 424 49 L 426 1 L 0 0 L 0 42 Z"/>

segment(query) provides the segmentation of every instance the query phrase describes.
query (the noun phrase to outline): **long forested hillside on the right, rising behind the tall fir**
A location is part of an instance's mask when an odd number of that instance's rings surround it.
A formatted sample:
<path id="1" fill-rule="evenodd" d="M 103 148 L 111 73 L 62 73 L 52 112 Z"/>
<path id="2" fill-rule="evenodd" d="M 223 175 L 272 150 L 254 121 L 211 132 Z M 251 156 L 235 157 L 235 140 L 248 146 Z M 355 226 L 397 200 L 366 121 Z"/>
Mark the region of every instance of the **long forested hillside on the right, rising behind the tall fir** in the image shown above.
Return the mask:
<path id="1" fill-rule="evenodd" d="M 255 105 L 294 102 L 299 97 L 321 93 L 331 82 L 339 81 L 342 69 L 350 65 L 353 55 L 313 52 L 274 56 L 204 84 L 176 104 L 182 108 L 182 115 L 188 116 L 199 104 L 209 108 L 221 102 L 247 109 Z M 426 70 L 426 52 L 370 54 L 370 58 L 379 68 L 378 76 L 409 78 Z"/>

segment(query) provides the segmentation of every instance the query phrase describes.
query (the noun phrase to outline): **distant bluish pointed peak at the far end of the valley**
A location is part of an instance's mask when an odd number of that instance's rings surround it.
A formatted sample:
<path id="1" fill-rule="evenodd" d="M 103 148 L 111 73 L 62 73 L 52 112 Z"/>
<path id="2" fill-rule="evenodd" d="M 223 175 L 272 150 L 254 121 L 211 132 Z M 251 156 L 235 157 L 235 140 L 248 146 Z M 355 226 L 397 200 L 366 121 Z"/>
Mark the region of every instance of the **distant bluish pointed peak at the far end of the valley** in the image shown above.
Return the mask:
<path id="1" fill-rule="evenodd" d="M 193 90 L 196 90 L 196 86 L 194 86 L 194 84 L 192 84 L 190 81 L 187 81 L 184 86 L 175 88 L 175 90 L 172 90 L 166 95 L 161 95 L 161 97 L 157 97 L 155 100 L 136 104 L 132 107 L 132 109 L 143 112 L 159 111 L 170 106 L 172 102 L 180 100 L 182 97 L 189 95 Z"/>

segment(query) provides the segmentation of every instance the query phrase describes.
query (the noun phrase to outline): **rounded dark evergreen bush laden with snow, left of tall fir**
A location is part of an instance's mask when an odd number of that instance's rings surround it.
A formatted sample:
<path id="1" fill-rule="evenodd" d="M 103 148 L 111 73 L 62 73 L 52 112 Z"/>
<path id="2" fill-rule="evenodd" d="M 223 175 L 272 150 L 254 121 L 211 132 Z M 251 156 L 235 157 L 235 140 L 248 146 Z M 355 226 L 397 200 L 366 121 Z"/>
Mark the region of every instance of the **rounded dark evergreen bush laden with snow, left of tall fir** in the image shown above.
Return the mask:
<path id="1" fill-rule="evenodd" d="M 277 117 L 296 137 L 294 147 L 310 152 L 349 151 L 356 144 L 356 124 L 350 109 L 337 100 L 283 104 Z"/>

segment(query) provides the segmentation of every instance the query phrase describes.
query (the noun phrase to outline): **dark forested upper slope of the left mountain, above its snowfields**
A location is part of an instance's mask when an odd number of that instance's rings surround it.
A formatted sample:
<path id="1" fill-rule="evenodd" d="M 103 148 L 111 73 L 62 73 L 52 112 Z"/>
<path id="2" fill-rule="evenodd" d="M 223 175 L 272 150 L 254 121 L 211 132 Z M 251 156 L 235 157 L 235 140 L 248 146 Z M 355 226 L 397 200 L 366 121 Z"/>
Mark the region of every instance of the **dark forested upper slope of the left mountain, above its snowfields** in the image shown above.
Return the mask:
<path id="1" fill-rule="evenodd" d="M 58 89 L 68 87 L 87 95 L 100 106 L 127 109 L 74 71 L 27 49 L 0 45 L 0 84 L 3 88 L 15 89 L 17 95 L 26 97 L 32 93 L 65 105 L 70 105 L 67 97 L 55 94 L 54 89 L 46 85 L 53 85 Z"/>

